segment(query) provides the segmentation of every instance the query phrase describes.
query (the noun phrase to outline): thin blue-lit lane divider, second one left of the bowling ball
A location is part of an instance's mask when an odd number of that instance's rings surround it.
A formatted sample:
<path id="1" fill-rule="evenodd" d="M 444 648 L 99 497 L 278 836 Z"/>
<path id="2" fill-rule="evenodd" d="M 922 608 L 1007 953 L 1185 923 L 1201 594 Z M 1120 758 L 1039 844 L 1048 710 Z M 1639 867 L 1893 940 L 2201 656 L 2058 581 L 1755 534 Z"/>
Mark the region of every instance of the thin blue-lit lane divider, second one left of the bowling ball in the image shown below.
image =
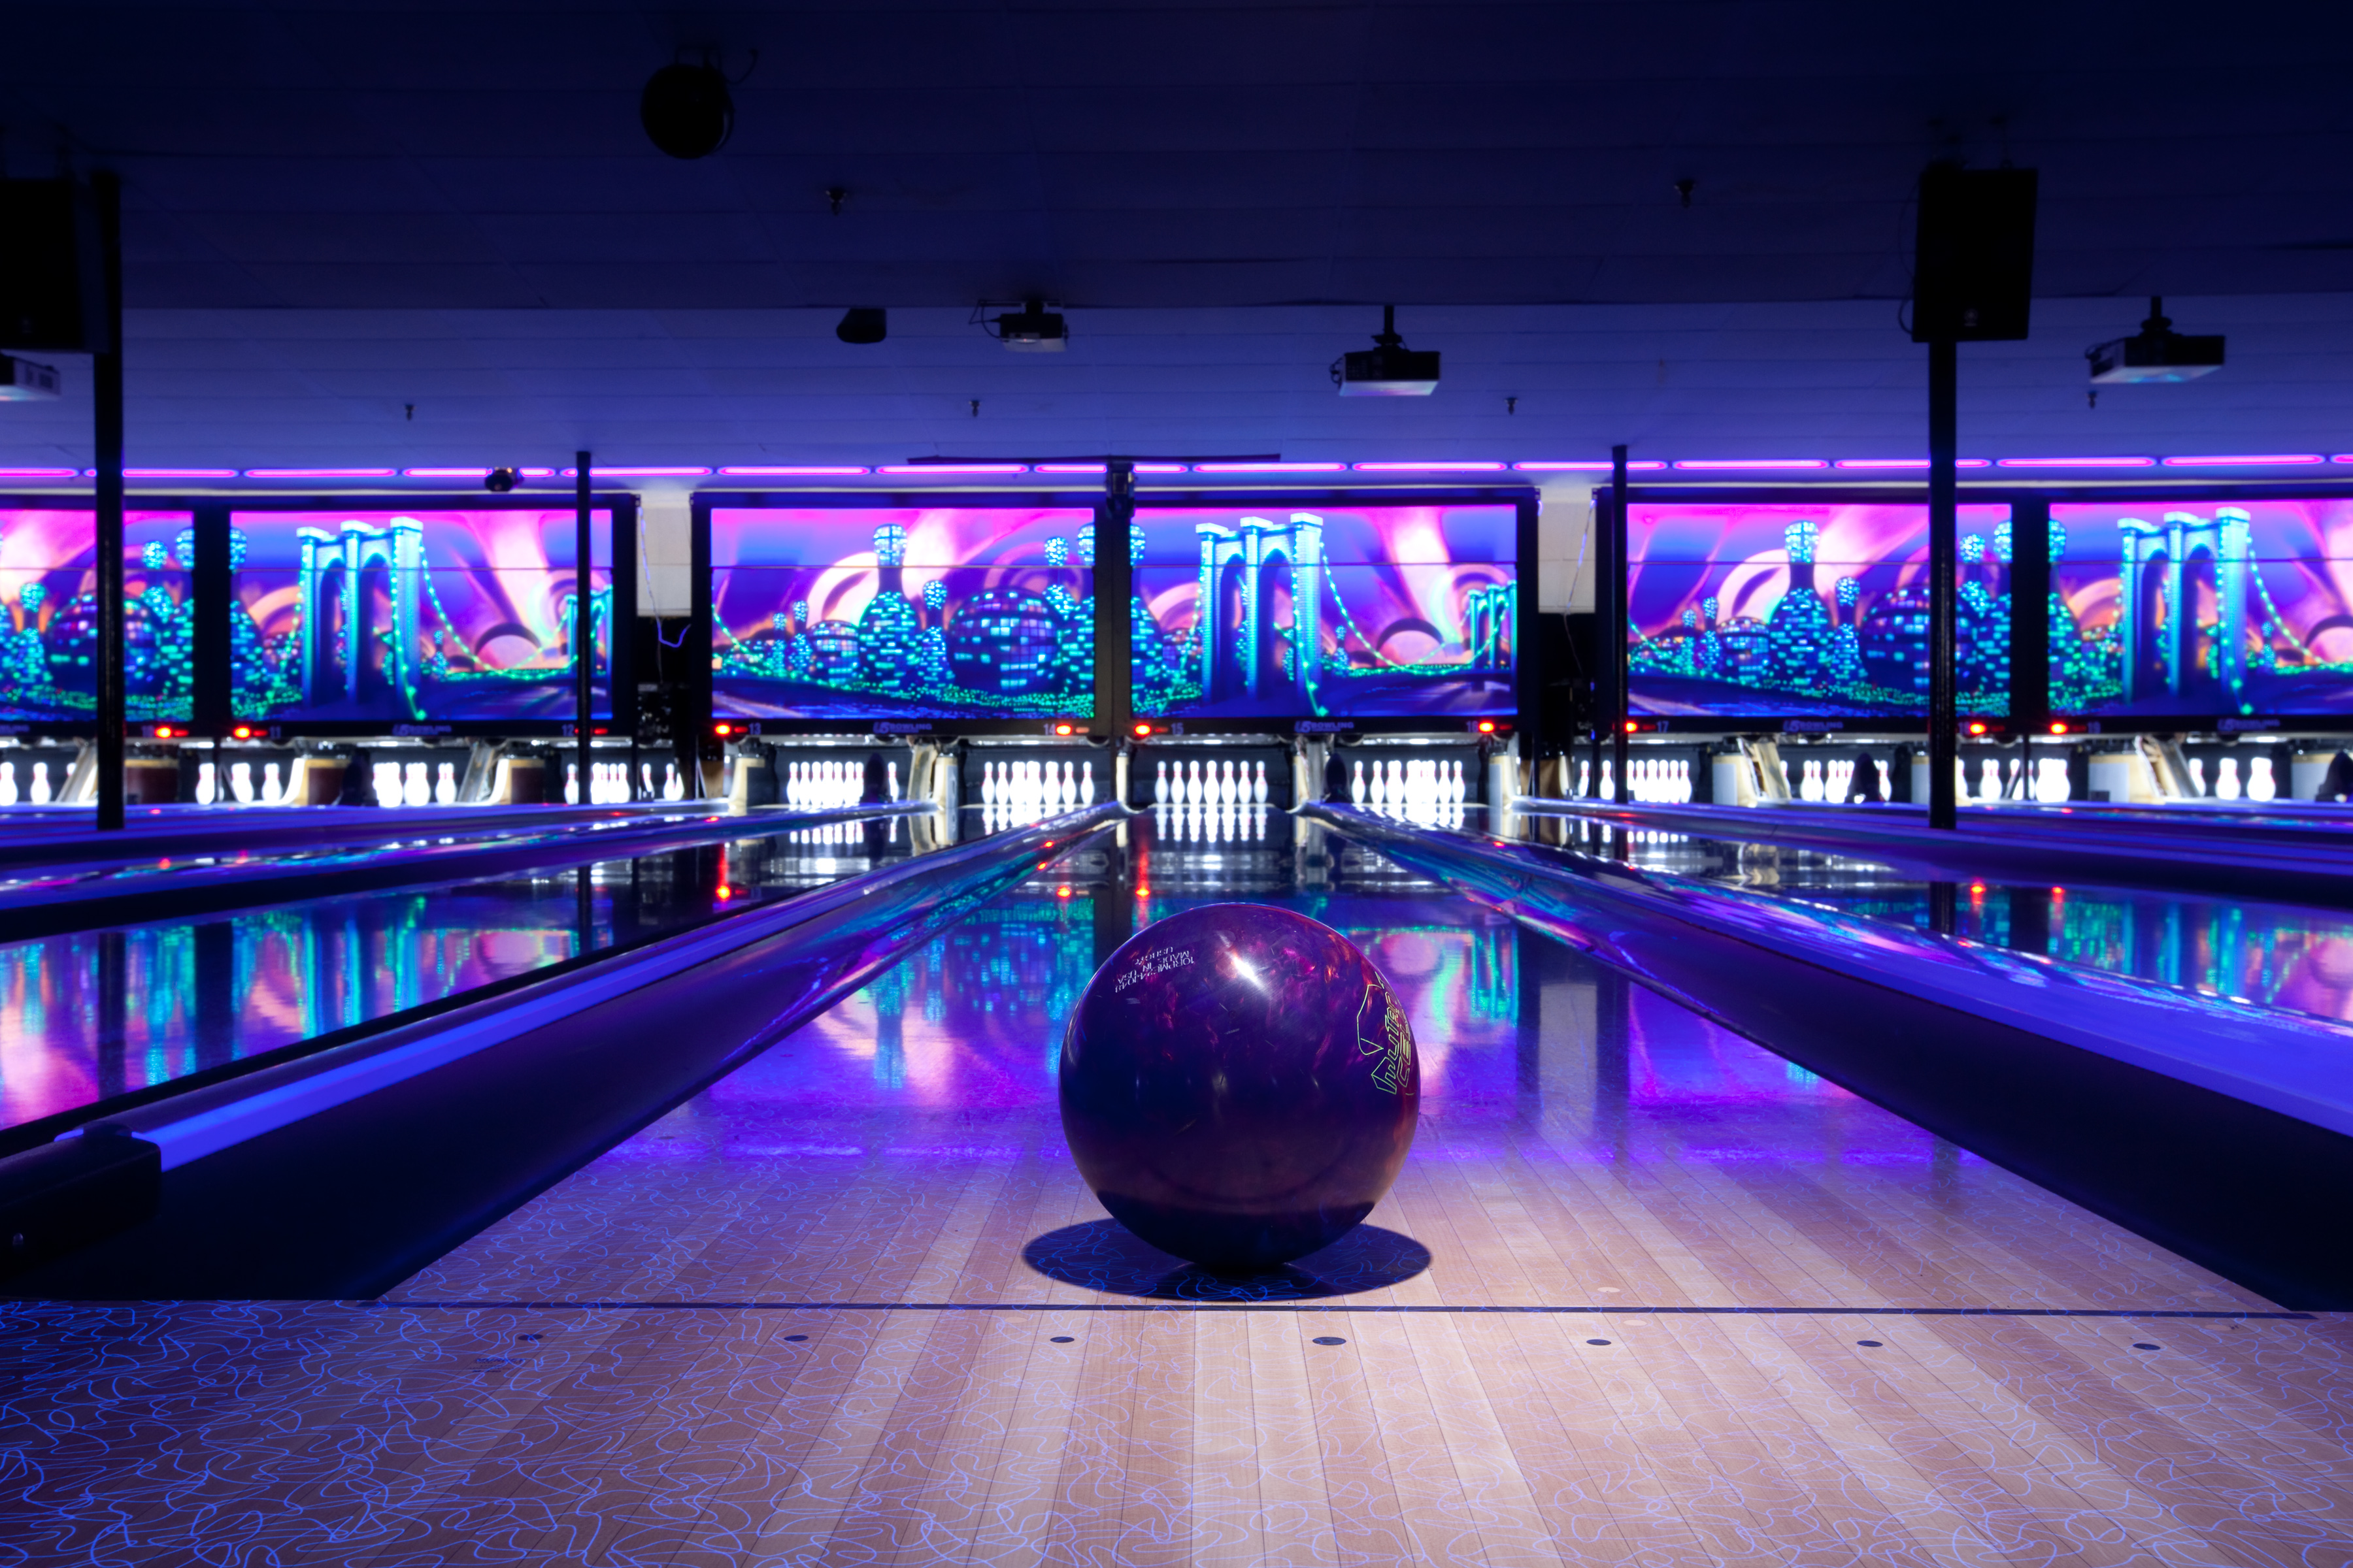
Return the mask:
<path id="1" fill-rule="evenodd" d="M 186 867 L 108 867 L 82 877 L 19 882 L 0 889 L 0 943 L 24 943 L 99 926 L 195 919 L 264 903 L 339 898 L 421 882 L 480 882 L 527 870 L 560 870 L 598 860 L 631 860 L 720 839 L 753 839 L 831 823 L 875 823 L 927 816 L 929 802 L 838 806 L 826 811 L 701 813 L 656 823 L 579 825 L 560 835 L 501 837 L 456 844 L 384 842 L 289 853 L 268 860 L 226 860 Z"/>

